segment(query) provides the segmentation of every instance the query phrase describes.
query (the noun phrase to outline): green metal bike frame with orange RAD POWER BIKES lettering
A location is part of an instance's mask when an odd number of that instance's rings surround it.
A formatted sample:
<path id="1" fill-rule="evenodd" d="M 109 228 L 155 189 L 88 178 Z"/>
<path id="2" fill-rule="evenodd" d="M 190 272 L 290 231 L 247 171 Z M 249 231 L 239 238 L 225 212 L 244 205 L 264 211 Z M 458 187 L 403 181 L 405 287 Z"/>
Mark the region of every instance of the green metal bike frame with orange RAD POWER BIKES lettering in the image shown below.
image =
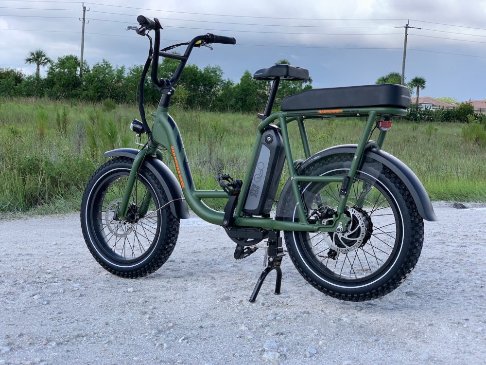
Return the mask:
<path id="1" fill-rule="evenodd" d="M 385 138 L 386 131 L 381 130 L 378 136 L 377 142 L 369 141 L 371 131 L 373 130 L 378 116 L 404 116 L 407 110 L 400 108 L 387 108 L 387 107 L 373 107 L 373 108 L 359 108 L 359 109 L 343 109 L 343 110 L 297 110 L 297 111 L 279 111 L 268 116 L 258 126 L 257 136 L 253 151 L 251 153 L 248 169 L 246 171 L 240 196 L 245 197 L 247 190 L 251 182 L 251 172 L 257 160 L 258 148 L 260 139 L 263 133 L 263 129 L 275 123 L 281 129 L 281 135 L 283 140 L 283 146 L 285 150 L 285 157 L 287 160 L 287 167 L 290 174 L 290 181 L 292 191 L 297 204 L 298 222 L 275 220 L 272 218 L 260 218 L 260 217 L 243 217 L 243 200 L 239 199 L 236 206 L 234 220 L 236 226 L 240 227 L 258 227 L 263 229 L 272 230 L 284 230 L 284 231 L 308 231 L 308 232 L 335 232 L 336 228 L 342 224 L 345 228 L 349 218 L 344 214 L 347 198 L 350 187 L 354 182 L 357 170 L 361 163 L 364 151 L 370 146 L 381 148 L 383 140 Z M 302 146 L 304 148 L 304 154 L 306 158 L 311 156 L 311 148 L 309 145 L 309 139 L 305 130 L 304 120 L 307 117 L 363 117 L 367 116 L 367 121 L 364 126 L 363 133 L 356 148 L 355 155 L 351 162 L 347 176 L 305 176 L 297 175 L 294 159 L 292 156 L 292 150 L 290 146 L 289 133 L 287 125 L 293 121 L 296 121 L 300 131 L 300 137 Z M 184 194 L 184 199 L 189 204 L 192 211 L 200 218 L 208 221 L 209 223 L 221 225 L 224 217 L 224 212 L 216 211 L 202 200 L 208 198 L 228 199 L 228 194 L 223 190 L 197 190 L 192 180 L 191 169 L 188 164 L 184 145 L 179 132 L 179 128 L 174 122 L 174 119 L 169 115 L 169 109 L 159 106 L 155 113 L 155 120 L 152 128 L 152 137 L 158 146 L 162 146 L 171 153 L 175 164 L 176 177 Z M 160 149 L 156 146 L 149 144 L 144 149 L 140 150 L 136 156 L 130 176 L 127 181 L 126 189 L 123 195 L 123 200 L 120 204 L 119 217 L 124 219 L 128 211 L 129 198 L 137 177 L 137 173 L 140 165 L 142 164 L 146 156 L 156 156 L 162 158 Z M 299 183 L 301 182 L 319 182 L 319 183 L 341 183 L 343 192 L 340 194 L 340 201 L 333 219 L 333 223 L 330 225 L 308 223 L 307 215 L 304 210 L 304 204 L 302 203 L 301 191 Z M 346 186 L 343 186 L 346 185 Z M 150 199 L 148 197 L 147 199 Z M 148 207 L 148 202 L 143 202 L 143 206 Z"/>

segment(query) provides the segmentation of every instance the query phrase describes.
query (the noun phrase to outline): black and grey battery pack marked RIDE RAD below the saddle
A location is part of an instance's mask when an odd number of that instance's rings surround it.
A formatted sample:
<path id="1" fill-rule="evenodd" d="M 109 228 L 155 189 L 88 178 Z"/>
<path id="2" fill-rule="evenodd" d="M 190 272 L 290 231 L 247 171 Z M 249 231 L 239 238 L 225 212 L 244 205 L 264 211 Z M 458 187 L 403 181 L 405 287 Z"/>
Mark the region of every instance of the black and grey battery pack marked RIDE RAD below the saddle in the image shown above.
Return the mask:
<path id="1" fill-rule="evenodd" d="M 252 216 L 270 213 L 284 163 L 285 153 L 280 130 L 277 126 L 267 126 L 263 129 L 252 180 L 243 203 L 244 213 Z"/>

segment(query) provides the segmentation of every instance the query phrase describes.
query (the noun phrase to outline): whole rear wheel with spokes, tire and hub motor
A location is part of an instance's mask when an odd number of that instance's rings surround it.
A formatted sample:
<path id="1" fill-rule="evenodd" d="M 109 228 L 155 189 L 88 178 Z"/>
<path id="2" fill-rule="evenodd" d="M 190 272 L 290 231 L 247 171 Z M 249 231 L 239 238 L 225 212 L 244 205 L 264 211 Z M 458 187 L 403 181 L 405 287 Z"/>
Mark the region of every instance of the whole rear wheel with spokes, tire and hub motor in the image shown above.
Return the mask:
<path id="1" fill-rule="evenodd" d="M 299 174 L 345 176 L 352 158 L 323 157 Z M 340 187 L 304 183 L 308 218 L 332 223 Z M 296 268 L 316 289 L 343 300 L 368 300 L 393 291 L 411 273 L 422 249 L 423 219 L 410 192 L 390 169 L 367 158 L 350 188 L 345 214 L 350 221 L 341 234 L 285 232 Z"/>

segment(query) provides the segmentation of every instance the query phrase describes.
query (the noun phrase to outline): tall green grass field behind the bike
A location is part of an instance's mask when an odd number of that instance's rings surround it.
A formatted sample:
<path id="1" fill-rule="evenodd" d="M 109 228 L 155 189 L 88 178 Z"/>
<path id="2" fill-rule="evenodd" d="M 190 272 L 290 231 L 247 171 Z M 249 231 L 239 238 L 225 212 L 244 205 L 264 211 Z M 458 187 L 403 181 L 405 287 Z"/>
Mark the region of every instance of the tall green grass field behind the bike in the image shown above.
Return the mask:
<path id="1" fill-rule="evenodd" d="M 255 116 L 184 110 L 171 114 L 198 189 L 218 187 L 215 176 L 222 171 L 243 178 L 259 122 Z M 0 101 L 0 214 L 79 210 L 84 186 L 103 163 L 103 152 L 134 147 L 135 135 L 128 128 L 133 118 L 139 119 L 135 106 L 108 111 L 101 104 Z M 364 121 L 310 120 L 306 126 L 314 153 L 357 143 Z M 433 200 L 486 201 L 486 149 L 468 143 L 462 127 L 396 121 L 383 149 L 417 174 Z M 295 123 L 290 133 L 294 159 L 303 158 Z M 173 168 L 172 162 L 168 165 Z M 281 185 L 285 180 L 284 173 Z"/>

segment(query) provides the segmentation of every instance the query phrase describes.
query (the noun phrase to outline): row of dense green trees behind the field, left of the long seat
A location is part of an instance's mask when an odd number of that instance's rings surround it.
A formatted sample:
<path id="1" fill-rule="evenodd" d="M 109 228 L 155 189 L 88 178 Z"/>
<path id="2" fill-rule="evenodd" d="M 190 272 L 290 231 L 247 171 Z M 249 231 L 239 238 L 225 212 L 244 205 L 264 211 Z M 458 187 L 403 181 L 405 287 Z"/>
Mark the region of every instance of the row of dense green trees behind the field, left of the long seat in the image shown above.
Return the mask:
<path id="1" fill-rule="evenodd" d="M 31 52 L 26 63 L 36 64 L 34 75 L 25 75 L 21 71 L 0 69 L 0 95 L 7 97 L 47 97 L 50 99 L 77 99 L 93 102 L 112 100 L 116 103 L 134 104 L 138 102 L 138 89 L 143 65 L 112 65 L 107 60 L 97 62 L 91 67 L 83 63 L 83 76 L 80 77 L 80 62 L 75 55 L 65 55 L 52 61 L 42 50 Z M 290 64 L 282 59 L 275 64 Z M 159 64 L 159 77 L 170 78 L 178 61 L 164 58 Z M 40 75 L 40 67 L 47 66 L 46 76 Z M 150 70 L 148 75 L 150 75 Z M 299 91 L 312 88 L 312 80 L 285 81 L 280 84 L 275 109 L 281 100 Z M 232 112 L 261 111 L 270 88 L 270 82 L 254 80 L 246 70 L 238 83 L 225 79 L 220 66 L 188 64 L 176 86 L 173 104 L 180 107 L 200 110 Z M 145 80 L 145 102 L 156 104 L 160 92 L 150 81 Z"/>

